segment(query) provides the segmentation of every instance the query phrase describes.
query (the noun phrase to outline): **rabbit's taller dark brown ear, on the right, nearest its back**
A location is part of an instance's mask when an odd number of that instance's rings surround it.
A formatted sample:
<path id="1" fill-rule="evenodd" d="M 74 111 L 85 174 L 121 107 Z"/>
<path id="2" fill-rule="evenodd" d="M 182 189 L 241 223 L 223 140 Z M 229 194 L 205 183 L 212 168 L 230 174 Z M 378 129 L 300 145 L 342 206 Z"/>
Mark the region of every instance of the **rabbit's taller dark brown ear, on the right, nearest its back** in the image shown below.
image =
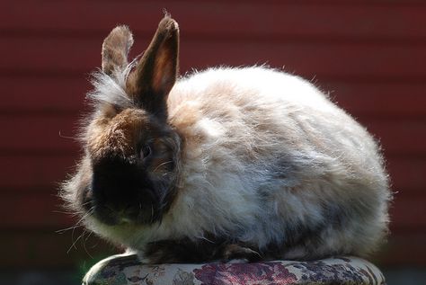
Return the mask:
<path id="1" fill-rule="evenodd" d="M 127 82 L 135 102 L 161 119 L 167 116 L 166 100 L 178 74 L 178 56 L 179 27 L 166 15 Z"/>

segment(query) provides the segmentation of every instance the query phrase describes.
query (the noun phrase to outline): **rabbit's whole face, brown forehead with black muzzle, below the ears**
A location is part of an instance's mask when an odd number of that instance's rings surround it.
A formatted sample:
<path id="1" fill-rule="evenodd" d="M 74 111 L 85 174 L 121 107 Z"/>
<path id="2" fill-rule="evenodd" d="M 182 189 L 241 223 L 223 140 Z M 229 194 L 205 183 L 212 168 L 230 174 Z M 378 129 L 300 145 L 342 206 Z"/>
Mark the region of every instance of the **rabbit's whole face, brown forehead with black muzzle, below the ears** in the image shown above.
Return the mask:
<path id="1" fill-rule="evenodd" d="M 84 209 L 108 225 L 150 224 L 169 209 L 175 193 L 180 138 L 143 111 L 127 109 L 88 131 L 90 178 Z"/>

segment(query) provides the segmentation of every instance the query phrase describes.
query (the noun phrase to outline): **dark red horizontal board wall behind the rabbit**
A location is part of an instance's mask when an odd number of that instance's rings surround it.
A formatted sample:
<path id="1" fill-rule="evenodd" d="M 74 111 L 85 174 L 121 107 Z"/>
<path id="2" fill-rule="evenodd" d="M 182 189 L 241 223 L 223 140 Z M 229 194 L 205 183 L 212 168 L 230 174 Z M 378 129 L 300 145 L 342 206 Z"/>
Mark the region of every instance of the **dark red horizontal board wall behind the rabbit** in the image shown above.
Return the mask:
<path id="1" fill-rule="evenodd" d="M 267 63 L 313 80 L 380 140 L 392 234 L 372 257 L 389 284 L 426 268 L 426 3 L 406 0 L 2 1 L 0 284 L 77 284 L 117 253 L 62 213 L 58 183 L 80 149 L 90 72 L 126 23 L 131 57 L 163 16 L 181 28 L 181 71 Z M 79 237 L 80 236 L 80 237 Z M 424 280 L 424 279 L 423 279 Z M 421 284 L 421 283 L 419 283 Z"/>

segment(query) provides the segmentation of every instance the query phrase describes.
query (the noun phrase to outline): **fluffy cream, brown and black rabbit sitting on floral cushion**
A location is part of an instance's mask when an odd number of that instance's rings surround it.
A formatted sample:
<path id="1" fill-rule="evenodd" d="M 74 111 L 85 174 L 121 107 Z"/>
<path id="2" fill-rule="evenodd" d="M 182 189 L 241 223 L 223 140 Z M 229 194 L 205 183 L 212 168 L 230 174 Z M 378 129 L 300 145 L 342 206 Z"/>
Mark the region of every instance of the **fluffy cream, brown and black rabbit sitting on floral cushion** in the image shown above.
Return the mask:
<path id="1" fill-rule="evenodd" d="M 326 94 L 265 66 L 179 76 L 169 15 L 129 63 L 132 44 L 124 25 L 103 41 L 62 186 L 85 227 L 144 263 L 364 257 L 386 239 L 381 150 Z"/>

